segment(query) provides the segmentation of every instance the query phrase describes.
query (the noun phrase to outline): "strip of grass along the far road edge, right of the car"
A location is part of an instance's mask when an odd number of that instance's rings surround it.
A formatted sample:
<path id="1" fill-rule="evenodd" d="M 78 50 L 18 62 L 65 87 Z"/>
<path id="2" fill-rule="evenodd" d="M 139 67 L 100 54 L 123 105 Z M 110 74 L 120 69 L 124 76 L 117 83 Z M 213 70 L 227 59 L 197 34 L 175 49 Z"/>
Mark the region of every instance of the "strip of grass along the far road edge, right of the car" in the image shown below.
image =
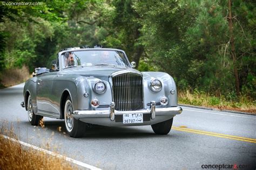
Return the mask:
<path id="1" fill-rule="evenodd" d="M 256 113 L 256 101 L 247 97 L 211 96 L 206 92 L 181 91 L 179 104 L 214 107 L 220 110 L 233 110 Z"/>

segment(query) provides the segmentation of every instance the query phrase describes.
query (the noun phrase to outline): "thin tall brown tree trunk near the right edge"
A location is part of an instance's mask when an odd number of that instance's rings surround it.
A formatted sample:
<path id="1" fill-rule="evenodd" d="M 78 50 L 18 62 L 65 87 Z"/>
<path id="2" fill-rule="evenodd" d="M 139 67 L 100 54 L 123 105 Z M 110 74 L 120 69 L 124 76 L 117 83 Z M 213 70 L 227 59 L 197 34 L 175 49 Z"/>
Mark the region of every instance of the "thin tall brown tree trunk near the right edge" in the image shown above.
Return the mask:
<path id="1" fill-rule="evenodd" d="M 237 70 L 237 56 L 235 55 L 231 4 L 232 4 L 231 0 L 228 0 L 228 26 L 230 28 L 230 45 L 231 45 L 230 55 L 232 56 L 232 59 L 233 59 L 233 71 L 234 71 L 234 77 L 235 77 L 235 91 L 237 92 L 237 95 L 239 96 L 240 95 L 240 82 L 239 82 L 239 76 L 238 76 L 238 70 Z"/>

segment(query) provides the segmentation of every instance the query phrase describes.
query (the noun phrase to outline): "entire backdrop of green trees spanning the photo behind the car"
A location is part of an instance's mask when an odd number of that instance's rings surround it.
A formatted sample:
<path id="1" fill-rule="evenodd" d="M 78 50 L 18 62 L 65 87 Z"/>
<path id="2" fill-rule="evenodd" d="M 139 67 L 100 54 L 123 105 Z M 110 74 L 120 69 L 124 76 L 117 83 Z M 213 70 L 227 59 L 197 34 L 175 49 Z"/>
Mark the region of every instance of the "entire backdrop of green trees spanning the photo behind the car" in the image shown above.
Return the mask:
<path id="1" fill-rule="evenodd" d="M 227 1 L 45 1 L 2 5 L 0 71 L 50 65 L 65 47 L 103 44 L 126 51 L 140 71 L 165 71 L 178 89 L 226 96 L 234 93 L 234 66 L 241 96 L 256 99 L 256 4 L 236 0 L 232 21 L 237 62 L 231 56 Z M 186 99 L 183 99 L 186 100 Z M 209 99 L 221 105 L 222 99 Z M 194 99 L 202 104 L 202 99 Z"/>

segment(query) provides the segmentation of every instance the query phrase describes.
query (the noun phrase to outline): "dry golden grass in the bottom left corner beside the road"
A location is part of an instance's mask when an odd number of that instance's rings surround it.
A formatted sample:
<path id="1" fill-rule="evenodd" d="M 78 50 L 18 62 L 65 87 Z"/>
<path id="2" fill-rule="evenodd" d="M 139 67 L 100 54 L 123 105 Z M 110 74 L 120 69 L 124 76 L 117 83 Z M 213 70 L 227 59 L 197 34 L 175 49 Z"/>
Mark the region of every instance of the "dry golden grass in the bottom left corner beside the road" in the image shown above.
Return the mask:
<path id="1" fill-rule="evenodd" d="M 42 127 L 43 128 L 43 127 Z M 18 140 L 13 130 L 4 126 L 0 133 L 0 169 L 76 169 L 64 159 L 53 157 L 18 142 L 5 139 L 2 134 Z"/>

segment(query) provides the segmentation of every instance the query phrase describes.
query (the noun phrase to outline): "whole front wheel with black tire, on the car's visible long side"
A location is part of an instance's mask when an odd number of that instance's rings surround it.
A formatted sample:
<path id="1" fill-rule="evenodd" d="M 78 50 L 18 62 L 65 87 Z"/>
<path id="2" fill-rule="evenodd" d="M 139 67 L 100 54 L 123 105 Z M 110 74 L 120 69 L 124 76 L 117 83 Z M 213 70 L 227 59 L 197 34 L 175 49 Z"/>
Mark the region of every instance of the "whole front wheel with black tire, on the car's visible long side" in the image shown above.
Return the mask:
<path id="1" fill-rule="evenodd" d="M 64 118 L 65 118 L 66 131 L 68 132 L 70 137 L 73 137 L 73 138 L 82 137 L 85 132 L 86 124 L 78 119 L 73 118 L 72 116 L 73 104 L 70 96 L 66 98 L 64 108 L 65 108 Z"/>

